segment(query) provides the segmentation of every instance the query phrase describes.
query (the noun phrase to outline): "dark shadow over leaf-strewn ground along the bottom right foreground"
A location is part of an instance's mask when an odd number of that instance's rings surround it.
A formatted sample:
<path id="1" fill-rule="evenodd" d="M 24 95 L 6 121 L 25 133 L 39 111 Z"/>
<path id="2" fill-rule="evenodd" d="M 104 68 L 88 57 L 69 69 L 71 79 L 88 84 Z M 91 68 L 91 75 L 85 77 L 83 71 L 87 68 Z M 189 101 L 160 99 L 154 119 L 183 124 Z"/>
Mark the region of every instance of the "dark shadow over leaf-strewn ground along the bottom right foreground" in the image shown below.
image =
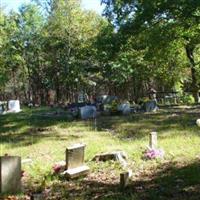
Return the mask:
<path id="1" fill-rule="evenodd" d="M 109 174 L 107 174 L 109 177 Z M 52 191 L 63 193 L 57 199 L 87 200 L 199 200 L 200 162 L 177 166 L 175 163 L 163 164 L 153 174 L 144 173 L 132 179 L 125 189 L 119 187 L 119 177 L 113 181 L 87 178 L 78 181 L 59 182 Z M 51 199 L 51 197 L 49 198 Z"/>

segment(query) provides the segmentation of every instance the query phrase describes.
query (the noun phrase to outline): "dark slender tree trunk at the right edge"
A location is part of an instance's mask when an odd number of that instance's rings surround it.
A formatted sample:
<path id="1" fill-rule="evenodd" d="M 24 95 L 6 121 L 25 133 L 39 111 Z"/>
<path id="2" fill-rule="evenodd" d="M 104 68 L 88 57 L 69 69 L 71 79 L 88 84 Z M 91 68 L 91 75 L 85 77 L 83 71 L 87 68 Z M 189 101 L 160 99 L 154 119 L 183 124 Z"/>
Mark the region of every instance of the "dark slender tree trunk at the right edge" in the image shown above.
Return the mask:
<path id="1" fill-rule="evenodd" d="M 190 45 L 187 45 L 185 49 L 186 49 L 188 60 L 190 61 L 190 69 L 191 69 L 191 76 L 192 76 L 192 95 L 194 97 L 195 103 L 198 103 L 199 102 L 199 86 L 198 86 L 197 78 L 196 78 L 194 48 L 191 47 Z"/>

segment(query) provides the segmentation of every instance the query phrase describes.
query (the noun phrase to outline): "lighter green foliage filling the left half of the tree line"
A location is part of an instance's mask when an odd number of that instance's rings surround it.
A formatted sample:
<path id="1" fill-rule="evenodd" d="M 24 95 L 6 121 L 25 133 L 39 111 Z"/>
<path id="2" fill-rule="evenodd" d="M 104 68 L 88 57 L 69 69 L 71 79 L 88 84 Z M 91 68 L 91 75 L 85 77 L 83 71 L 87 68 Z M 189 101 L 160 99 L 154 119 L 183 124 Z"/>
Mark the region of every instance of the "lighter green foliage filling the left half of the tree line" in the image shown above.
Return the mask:
<path id="1" fill-rule="evenodd" d="M 97 70 L 88 72 L 98 66 L 93 44 L 105 20 L 82 10 L 77 0 L 48 4 L 48 15 L 35 4 L 25 4 L 19 13 L 0 19 L 5 36 L 0 39 L 0 85 L 15 98 L 46 98 L 45 92 L 54 89 L 60 99 L 69 88 L 73 94 L 78 88 L 93 87 L 90 83 L 100 76 Z"/>

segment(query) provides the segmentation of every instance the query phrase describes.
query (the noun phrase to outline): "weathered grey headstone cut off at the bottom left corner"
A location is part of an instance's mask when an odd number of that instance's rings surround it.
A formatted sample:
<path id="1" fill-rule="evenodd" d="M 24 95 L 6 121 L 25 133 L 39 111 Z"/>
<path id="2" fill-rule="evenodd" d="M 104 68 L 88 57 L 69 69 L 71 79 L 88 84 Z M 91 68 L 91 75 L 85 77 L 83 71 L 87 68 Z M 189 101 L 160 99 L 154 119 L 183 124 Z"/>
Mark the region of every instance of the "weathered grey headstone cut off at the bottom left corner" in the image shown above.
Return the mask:
<path id="1" fill-rule="evenodd" d="M 21 158 L 0 156 L 0 193 L 15 194 L 21 191 Z"/>

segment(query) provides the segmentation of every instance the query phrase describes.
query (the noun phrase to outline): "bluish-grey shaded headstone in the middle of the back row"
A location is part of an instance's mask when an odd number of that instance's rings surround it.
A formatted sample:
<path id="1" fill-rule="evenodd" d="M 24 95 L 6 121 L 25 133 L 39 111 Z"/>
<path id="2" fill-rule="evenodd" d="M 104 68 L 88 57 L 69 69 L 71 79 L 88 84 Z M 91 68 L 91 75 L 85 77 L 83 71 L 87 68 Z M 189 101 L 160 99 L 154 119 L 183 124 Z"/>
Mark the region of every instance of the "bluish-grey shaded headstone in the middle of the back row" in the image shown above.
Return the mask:
<path id="1" fill-rule="evenodd" d="M 95 106 L 83 106 L 80 108 L 81 119 L 96 118 L 97 109 Z"/>

